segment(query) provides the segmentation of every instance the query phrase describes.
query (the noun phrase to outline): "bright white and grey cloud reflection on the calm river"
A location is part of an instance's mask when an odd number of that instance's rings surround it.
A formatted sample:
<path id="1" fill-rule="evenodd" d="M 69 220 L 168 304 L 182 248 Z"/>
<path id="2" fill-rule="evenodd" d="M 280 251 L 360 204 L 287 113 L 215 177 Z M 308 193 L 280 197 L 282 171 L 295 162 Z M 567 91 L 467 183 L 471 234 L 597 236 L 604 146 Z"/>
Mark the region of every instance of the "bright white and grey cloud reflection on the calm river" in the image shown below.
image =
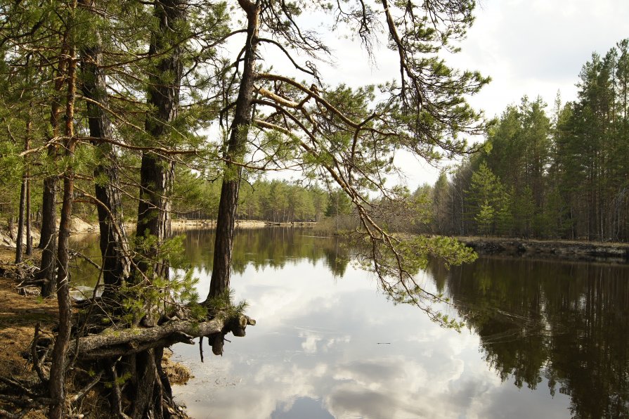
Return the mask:
<path id="1" fill-rule="evenodd" d="M 342 278 L 322 261 L 247 266 L 233 288 L 258 322 L 247 337 L 203 364 L 198 347 L 175 347 L 196 378 L 174 391 L 195 418 L 501 418 L 513 406 L 529 409 L 519 418 L 566 416 L 567 397 L 501 383 L 478 337 L 394 306 L 351 266 Z"/>

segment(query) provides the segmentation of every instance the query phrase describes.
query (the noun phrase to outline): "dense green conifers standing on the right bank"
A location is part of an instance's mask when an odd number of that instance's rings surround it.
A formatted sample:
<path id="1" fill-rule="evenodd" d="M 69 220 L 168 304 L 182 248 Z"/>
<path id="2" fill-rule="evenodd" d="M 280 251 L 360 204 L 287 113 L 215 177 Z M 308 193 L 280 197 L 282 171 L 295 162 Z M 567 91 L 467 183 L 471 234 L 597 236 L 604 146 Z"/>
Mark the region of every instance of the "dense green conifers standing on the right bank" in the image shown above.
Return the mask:
<path id="1" fill-rule="evenodd" d="M 454 235 L 629 238 L 629 40 L 592 54 L 578 99 L 549 113 L 540 98 L 510 105 L 481 153 L 422 186 L 429 229 Z"/>

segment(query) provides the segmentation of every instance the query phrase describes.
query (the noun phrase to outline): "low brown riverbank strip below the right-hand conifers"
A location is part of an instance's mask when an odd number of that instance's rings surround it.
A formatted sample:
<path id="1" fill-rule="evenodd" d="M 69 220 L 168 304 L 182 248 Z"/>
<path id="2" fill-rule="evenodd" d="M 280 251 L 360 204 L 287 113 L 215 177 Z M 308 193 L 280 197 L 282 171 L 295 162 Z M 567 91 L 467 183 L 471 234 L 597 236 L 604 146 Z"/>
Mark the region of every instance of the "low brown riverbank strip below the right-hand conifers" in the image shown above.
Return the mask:
<path id="1" fill-rule="evenodd" d="M 629 243 L 597 243 L 576 240 L 458 237 L 479 256 L 564 259 L 584 262 L 629 263 Z"/>

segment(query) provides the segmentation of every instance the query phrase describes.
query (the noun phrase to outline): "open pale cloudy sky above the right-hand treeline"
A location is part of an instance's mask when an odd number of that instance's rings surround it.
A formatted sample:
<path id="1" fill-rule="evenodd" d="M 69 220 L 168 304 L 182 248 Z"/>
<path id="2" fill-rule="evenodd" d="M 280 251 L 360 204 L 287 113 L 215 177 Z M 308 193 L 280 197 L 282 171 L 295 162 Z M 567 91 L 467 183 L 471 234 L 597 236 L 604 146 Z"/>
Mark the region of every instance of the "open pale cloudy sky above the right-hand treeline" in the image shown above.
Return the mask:
<path id="1" fill-rule="evenodd" d="M 524 94 L 552 108 L 576 98 L 581 67 L 629 37 L 628 0 L 481 0 L 462 51 L 451 60 L 493 82 L 471 102 L 500 115 Z"/>

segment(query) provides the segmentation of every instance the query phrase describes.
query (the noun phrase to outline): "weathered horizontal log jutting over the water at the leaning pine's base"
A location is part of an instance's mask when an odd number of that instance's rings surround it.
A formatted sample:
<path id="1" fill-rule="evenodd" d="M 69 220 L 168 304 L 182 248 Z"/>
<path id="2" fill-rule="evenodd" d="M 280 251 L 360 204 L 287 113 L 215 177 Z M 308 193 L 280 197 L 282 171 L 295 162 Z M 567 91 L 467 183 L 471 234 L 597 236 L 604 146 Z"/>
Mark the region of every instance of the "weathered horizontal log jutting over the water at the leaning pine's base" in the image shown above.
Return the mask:
<path id="1" fill-rule="evenodd" d="M 245 335 L 245 327 L 256 322 L 248 316 L 224 321 L 213 318 L 210 321 L 169 321 L 153 328 L 129 328 L 116 330 L 108 328 L 98 335 L 79 337 L 78 344 L 72 344 L 72 355 L 79 359 L 103 359 L 115 356 L 136 354 L 155 347 L 167 347 L 177 342 L 193 343 L 194 337 L 216 336 L 233 332 L 236 336 Z"/>

